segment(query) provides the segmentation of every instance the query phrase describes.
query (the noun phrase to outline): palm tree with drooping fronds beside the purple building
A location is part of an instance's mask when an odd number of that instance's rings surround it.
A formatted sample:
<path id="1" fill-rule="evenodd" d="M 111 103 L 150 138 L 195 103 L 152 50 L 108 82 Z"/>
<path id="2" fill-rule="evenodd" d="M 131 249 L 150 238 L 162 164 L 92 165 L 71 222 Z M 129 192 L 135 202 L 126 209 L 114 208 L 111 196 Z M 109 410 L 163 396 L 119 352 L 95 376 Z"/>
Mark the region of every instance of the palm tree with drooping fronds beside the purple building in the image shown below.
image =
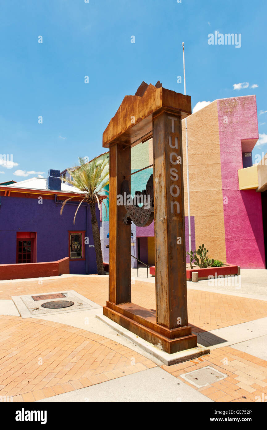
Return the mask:
<path id="1" fill-rule="evenodd" d="M 103 187 L 105 187 L 109 183 L 109 178 L 108 178 L 109 172 L 106 170 L 106 166 L 108 163 L 106 160 L 103 160 L 97 164 L 96 159 L 91 161 L 91 163 L 85 163 L 85 160 L 82 157 L 79 157 L 79 163 L 80 165 L 77 166 L 74 170 L 67 169 L 67 172 L 69 173 L 70 178 L 72 177 L 73 180 L 66 177 L 64 178 L 64 181 L 68 182 L 69 184 L 72 184 L 74 187 L 78 188 L 84 194 L 83 199 L 81 200 L 81 202 L 79 203 L 76 209 L 74 219 L 73 219 L 73 224 L 75 224 L 76 215 L 82 202 L 88 203 L 90 207 L 90 212 L 91 212 L 94 249 L 95 249 L 96 258 L 97 258 L 97 273 L 99 275 L 104 275 L 105 271 L 103 266 L 100 232 L 99 232 L 97 217 L 95 213 L 95 206 L 97 203 L 97 206 L 100 210 L 100 203 L 102 203 L 103 200 L 105 200 L 108 197 L 107 194 L 103 194 L 103 193 L 108 193 L 107 190 L 103 190 Z M 62 215 L 65 204 L 69 200 L 72 200 L 73 197 L 70 197 L 67 200 L 64 200 L 64 202 L 62 203 L 60 215 Z M 103 205 L 106 208 L 105 203 L 103 203 Z"/>

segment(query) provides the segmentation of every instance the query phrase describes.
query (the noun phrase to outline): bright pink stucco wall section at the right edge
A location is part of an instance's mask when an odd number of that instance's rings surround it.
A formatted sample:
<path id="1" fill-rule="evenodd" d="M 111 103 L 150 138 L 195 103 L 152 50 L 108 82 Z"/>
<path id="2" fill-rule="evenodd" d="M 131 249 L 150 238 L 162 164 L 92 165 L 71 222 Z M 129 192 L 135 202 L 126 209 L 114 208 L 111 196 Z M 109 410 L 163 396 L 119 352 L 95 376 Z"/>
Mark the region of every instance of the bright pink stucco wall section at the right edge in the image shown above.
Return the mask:
<path id="1" fill-rule="evenodd" d="M 226 259 L 243 268 L 265 268 L 261 193 L 239 190 L 242 152 L 258 140 L 256 96 L 217 101 L 224 198 Z M 227 199 L 225 199 L 227 197 Z"/>

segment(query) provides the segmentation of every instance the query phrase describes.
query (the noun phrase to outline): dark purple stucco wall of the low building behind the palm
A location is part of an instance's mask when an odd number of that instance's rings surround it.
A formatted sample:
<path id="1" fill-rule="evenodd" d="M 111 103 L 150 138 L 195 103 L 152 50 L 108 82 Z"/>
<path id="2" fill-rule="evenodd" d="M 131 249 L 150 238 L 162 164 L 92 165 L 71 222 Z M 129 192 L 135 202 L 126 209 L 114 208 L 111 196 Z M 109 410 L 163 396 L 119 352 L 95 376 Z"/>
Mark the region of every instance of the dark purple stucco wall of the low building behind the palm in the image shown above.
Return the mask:
<path id="1" fill-rule="evenodd" d="M 0 205 L 0 264 L 16 262 L 17 232 L 36 232 L 37 262 L 57 261 L 69 256 L 68 230 L 86 230 L 86 207 L 80 206 L 73 218 L 76 205 L 66 205 L 60 215 L 61 204 L 54 200 L 23 197 L 2 197 Z M 99 211 L 97 209 L 99 221 Z M 88 209 L 88 245 L 94 245 L 91 213 Z M 85 245 L 88 252 L 88 273 L 97 273 L 94 248 Z M 85 250 L 86 251 L 86 250 Z M 86 273 L 86 261 L 70 261 L 70 273 Z"/>

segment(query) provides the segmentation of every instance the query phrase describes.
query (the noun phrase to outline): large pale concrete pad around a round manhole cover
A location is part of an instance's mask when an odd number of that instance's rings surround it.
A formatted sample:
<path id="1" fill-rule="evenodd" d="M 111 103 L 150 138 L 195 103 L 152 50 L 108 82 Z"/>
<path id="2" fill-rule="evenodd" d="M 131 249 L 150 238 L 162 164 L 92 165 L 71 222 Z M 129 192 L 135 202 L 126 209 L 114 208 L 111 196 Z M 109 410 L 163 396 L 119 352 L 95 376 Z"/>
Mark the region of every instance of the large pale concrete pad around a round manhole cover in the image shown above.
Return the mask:
<path id="1" fill-rule="evenodd" d="M 22 318 L 100 308 L 74 290 L 12 297 Z M 42 306 L 43 305 L 43 306 Z"/>

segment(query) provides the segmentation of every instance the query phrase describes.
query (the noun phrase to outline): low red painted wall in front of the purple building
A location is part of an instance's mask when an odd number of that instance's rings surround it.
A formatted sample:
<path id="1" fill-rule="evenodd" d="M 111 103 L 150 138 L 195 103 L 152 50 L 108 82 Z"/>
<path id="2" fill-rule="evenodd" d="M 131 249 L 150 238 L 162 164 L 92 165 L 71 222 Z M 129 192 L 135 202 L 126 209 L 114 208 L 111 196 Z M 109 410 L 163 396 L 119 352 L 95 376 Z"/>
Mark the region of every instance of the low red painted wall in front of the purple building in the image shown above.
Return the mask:
<path id="1" fill-rule="evenodd" d="M 70 273 L 69 257 L 45 263 L 0 264 L 1 280 L 59 276 L 63 273 Z"/>

